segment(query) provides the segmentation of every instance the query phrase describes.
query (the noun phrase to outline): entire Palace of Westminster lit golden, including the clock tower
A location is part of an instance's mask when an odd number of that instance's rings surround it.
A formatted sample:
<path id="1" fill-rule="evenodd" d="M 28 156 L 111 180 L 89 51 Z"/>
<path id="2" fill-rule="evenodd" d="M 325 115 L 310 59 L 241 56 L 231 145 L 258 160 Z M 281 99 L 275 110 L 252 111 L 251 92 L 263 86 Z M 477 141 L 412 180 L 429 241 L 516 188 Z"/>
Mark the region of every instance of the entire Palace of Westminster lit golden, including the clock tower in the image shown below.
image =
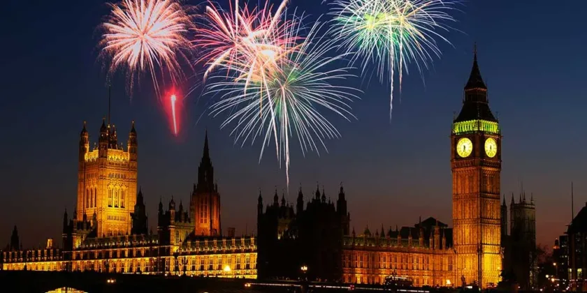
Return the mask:
<path id="1" fill-rule="evenodd" d="M 413 227 L 350 229 L 345 190 L 336 202 L 324 188 L 299 190 L 296 206 L 275 192 L 259 193 L 257 235 L 222 232 L 219 188 L 206 134 L 198 181 L 189 205 L 159 202 L 157 232 L 147 229 L 143 193 L 137 188 L 138 140 L 134 123 L 126 148 L 103 121 L 97 147 L 80 134 L 77 205 L 63 216 L 61 248 L 22 249 L 15 227 L 1 255 L 3 270 L 101 271 L 231 278 L 308 278 L 382 283 L 386 276 L 414 285 L 496 285 L 502 271 L 530 287 L 535 205 L 512 195 L 510 222 L 500 193 L 501 129 L 488 105 L 477 54 L 465 85 L 463 107 L 451 129 L 452 223 L 435 218 Z M 73 216 L 73 217 L 71 217 Z M 509 225 L 508 225 L 509 224 Z M 509 229 L 508 229 L 509 226 Z M 525 252 L 525 253 L 524 253 Z M 528 253 L 530 252 L 530 253 Z M 515 255 L 515 261 L 509 261 Z"/>

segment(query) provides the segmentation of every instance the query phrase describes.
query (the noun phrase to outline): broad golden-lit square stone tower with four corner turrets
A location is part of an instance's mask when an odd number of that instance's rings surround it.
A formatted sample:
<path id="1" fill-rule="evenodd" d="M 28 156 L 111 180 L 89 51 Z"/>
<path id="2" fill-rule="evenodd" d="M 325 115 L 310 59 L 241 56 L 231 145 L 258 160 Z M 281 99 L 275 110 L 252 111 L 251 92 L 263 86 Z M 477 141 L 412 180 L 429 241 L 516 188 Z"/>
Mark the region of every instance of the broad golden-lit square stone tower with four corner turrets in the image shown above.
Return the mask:
<path id="1" fill-rule="evenodd" d="M 98 147 L 90 150 L 86 123 L 80 134 L 76 220 L 96 213 L 98 236 L 129 234 L 136 204 L 137 148 L 134 122 L 126 149 L 117 142 L 115 126 L 103 119 Z M 95 225 L 96 223 L 92 223 Z"/>

